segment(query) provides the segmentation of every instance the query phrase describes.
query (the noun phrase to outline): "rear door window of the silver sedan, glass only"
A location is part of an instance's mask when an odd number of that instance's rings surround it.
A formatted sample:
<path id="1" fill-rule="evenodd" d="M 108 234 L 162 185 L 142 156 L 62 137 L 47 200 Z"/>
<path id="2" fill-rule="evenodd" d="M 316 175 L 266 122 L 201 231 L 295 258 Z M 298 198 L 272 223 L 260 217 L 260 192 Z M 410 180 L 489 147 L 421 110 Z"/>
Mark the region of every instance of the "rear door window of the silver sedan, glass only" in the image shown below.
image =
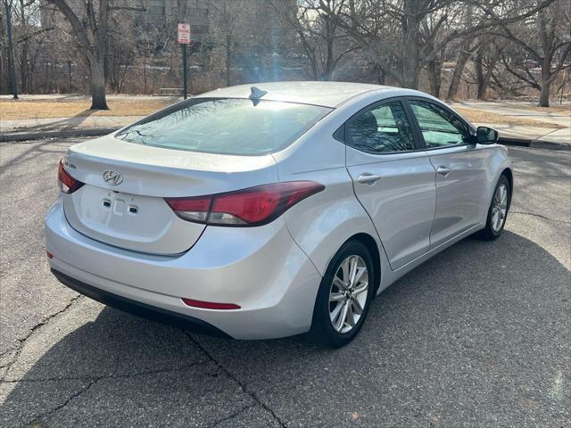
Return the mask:
<path id="1" fill-rule="evenodd" d="M 414 136 L 400 101 L 360 112 L 347 122 L 347 143 L 363 152 L 415 150 Z"/>

